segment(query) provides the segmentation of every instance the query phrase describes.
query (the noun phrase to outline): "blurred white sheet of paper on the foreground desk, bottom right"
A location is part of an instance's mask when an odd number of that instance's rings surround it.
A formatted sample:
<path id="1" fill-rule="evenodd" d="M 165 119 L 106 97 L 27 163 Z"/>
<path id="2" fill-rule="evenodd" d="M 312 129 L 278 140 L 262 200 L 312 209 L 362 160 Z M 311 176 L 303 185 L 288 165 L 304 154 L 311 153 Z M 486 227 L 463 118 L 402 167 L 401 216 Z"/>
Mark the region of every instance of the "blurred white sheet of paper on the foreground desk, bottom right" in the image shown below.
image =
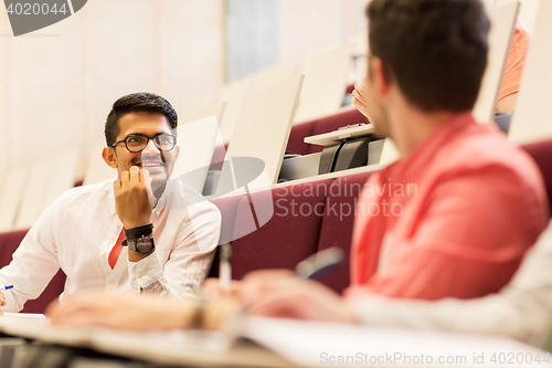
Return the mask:
<path id="1" fill-rule="evenodd" d="M 253 317 L 244 335 L 309 367 L 550 366 L 548 353 L 500 336 Z M 534 360 L 540 358 L 540 364 Z M 519 360 L 516 360 L 519 359 Z M 496 361 L 493 361 L 496 360 Z M 529 362 L 531 361 L 531 362 Z"/>

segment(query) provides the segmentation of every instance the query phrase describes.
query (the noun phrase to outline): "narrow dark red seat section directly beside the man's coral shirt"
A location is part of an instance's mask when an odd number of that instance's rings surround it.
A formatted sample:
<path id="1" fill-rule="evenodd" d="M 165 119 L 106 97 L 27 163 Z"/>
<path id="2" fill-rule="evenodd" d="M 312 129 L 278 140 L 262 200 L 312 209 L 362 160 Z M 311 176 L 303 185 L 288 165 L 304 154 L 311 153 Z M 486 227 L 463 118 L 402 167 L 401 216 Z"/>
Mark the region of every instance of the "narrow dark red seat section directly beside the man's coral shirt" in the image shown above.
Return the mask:
<path id="1" fill-rule="evenodd" d="M 320 280 L 333 291 L 341 293 L 350 284 L 349 254 L 351 252 L 354 211 L 360 191 L 371 172 L 362 172 L 333 180 L 326 199 L 318 250 L 339 246 L 346 255 L 338 270 Z"/>

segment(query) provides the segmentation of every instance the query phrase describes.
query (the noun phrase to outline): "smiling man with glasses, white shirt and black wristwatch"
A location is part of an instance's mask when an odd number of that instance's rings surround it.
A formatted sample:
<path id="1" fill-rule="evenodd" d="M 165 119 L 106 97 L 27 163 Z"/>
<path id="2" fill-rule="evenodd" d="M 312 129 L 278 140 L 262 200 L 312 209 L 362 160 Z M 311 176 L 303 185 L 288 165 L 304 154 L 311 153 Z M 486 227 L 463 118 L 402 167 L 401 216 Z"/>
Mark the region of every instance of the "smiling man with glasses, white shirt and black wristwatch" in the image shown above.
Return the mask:
<path id="1" fill-rule="evenodd" d="M 136 93 L 113 105 L 102 156 L 116 180 L 74 188 L 41 215 L 0 270 L 3 311 L 22 309 L 61 267 L 61 301 L 89 288 L 195 294 L 219 241 L 216 207 L 170 178 L 180 147 L 177 113 L 164 98 Z"/>

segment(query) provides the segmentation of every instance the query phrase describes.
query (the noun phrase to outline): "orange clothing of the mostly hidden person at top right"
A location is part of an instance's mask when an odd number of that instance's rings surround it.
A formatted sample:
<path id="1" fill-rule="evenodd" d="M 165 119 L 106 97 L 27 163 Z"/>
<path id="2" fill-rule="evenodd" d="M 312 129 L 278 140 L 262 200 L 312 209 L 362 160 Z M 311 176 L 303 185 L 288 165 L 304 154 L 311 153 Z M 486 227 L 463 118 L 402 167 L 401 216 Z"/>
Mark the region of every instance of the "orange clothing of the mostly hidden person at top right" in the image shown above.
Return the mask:
<path id="1" fill-rule="evenodd" d="M 510 53 L 508 54 L 508 61 L 506 63 L 505 75 L 502 76 L 502 85 L 498 93 L 498 101 L 519 91 L 530 42 L 531 31 L 529 31 L 523 21 L 518 17 L 516 21 L 516 33 L 513 34 Z"/>

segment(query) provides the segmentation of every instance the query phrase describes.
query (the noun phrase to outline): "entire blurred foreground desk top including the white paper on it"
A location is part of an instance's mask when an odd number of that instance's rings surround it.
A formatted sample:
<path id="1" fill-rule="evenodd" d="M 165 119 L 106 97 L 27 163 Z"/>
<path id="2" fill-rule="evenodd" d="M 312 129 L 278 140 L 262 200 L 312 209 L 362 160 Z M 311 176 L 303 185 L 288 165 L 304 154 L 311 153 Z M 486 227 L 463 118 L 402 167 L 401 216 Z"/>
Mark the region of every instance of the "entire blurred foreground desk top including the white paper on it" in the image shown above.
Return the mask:
<path id="1" fill-rule="evenodd" d="M 170 366 L 482 368 L 552 364 L 549 353 L 502 336 L 261 317 L 252 317 L 244 328 L 244 336 L 270 350 L 244 340 L 230 346 L 230 340 L 220 333 L 63 329 L 51 327 L 46 319 L 0 317 L 0 330 L 12 336 Z M 422 356 L 425 357 L 423 361 L 420 360 Z M 382 360 L 381 357 L 391 358 Z M 408 362 L 406 357 L 412 361 Z M 456 360 L 439 364 L 438 359 L 443 357 Z M 508 364 L 511 357 L 513 365 Z M 534 361 L 538 357 L 539 364 Z M 346 360 L 349 358 L 353 359 L 352 364 Z M 339 359 L 343 361 L 340 364 Z"/>

